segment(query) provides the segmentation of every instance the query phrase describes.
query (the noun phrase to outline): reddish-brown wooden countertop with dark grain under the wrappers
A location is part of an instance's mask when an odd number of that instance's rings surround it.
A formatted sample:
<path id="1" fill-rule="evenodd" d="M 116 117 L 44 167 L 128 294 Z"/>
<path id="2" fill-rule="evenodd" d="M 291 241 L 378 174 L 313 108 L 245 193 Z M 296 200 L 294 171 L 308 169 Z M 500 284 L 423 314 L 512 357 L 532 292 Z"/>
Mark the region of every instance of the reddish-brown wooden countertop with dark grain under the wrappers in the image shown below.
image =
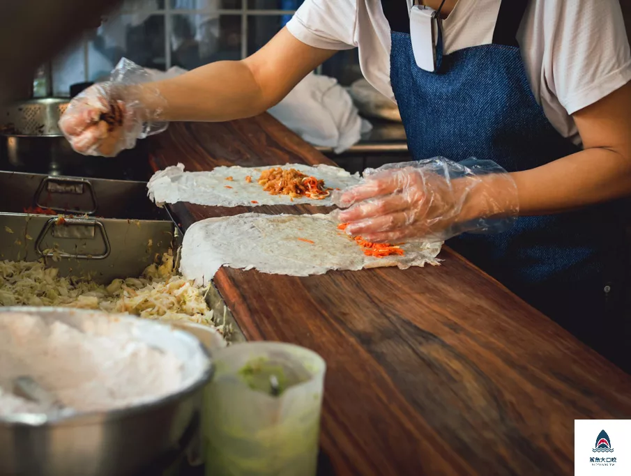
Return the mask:
<path id="1" fill-rule="evenodd" d="M 266 115 L 174 123 L 151 142 L 158 169 L 330 163 Z M 186 229 L 314 208 L 171 210 Z M 222 268 L 215 285 L 245 337 L 326 360 L 320 475 L 573 474 L 574 420 L 631 417 L 631 376 L 461 256 L 441 257 L 312 277 Z"/>

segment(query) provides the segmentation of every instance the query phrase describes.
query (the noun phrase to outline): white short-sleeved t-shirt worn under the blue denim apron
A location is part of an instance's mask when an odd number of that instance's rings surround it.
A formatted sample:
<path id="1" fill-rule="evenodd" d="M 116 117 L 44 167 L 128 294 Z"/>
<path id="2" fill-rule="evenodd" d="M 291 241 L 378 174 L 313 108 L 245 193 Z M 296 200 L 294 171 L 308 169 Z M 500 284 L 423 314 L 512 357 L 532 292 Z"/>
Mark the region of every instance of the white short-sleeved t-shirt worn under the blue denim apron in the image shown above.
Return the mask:
<path id="1" fill-rule="evenodd" d="M 400 1 L 406 0 L 388 0 Z M 501 0 L 459 0 L 443 21 L 444 52 L 492 43 Z M 358 47 L 363 75 L 394 99 L 390 25 L 379 0 L 305 0 L 287 24 L 307 45 Z M 570 114 L 631 80 L 618 0 L 531 0 L 517 34 L 535 98 L 554 128 L 581 144 Z"/>

